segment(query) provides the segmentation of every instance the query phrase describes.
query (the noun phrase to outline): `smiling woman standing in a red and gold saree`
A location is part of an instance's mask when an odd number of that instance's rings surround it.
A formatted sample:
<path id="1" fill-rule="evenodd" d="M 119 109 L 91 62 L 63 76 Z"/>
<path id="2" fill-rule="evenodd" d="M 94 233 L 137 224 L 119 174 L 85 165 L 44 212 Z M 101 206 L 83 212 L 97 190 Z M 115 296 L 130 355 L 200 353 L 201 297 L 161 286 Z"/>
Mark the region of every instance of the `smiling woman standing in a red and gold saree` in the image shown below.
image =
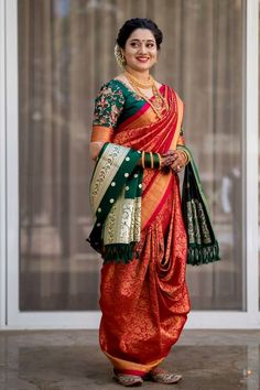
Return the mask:
<path id="1" fill-rule="evenodd" d="M 96 223 L 89 241 L 105 260 L 99 339 L 122 386 L 180 381 L 159 365 L 189 312 L 177 176 L 189 160 L 183 102 L 150 75 L 162 37 L 148 19 L 120 29 L 115 54 L 123 73 L 96 98 L 90 143 Z"/>

